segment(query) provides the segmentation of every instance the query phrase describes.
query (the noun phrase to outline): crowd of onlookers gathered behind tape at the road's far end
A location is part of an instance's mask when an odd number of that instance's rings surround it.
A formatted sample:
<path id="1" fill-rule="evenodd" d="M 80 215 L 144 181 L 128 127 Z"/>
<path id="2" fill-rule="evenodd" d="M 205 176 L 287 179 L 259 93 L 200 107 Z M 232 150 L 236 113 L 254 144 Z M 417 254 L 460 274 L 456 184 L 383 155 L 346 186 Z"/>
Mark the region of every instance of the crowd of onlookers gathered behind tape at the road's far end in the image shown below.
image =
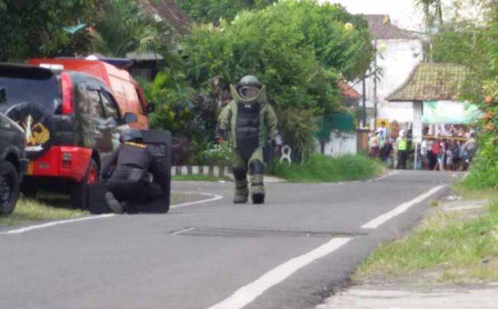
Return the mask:
<path id="1" fill-rule="evenodd" d="M 386 162 L 391 168 L 406 169 L 408 160 L 417 159 L 416 166 L 424 170 L 466 170 L 477 150 L 474 131 L 465 126 L 442 126 L 437 134 L 423 130 L 422 142 L 415 147 L 412 129 L 388 130 L 386 124 L 371 132 L 369 156 Z M 415 151 L 417 151 L 415 156 Z"/>

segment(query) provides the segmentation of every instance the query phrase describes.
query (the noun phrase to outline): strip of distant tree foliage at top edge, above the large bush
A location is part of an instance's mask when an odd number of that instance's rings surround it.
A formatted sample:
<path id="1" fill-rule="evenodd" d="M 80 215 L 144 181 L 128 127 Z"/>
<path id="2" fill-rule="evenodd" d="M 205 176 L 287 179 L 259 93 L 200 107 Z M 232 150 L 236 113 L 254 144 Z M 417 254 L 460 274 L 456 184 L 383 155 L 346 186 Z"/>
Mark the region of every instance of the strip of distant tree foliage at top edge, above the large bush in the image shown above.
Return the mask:
<path id="1" fill-rule="evenodd" d="M 175 0 L 194 21 L 198 23 L 219 23 L 221 18 L 233 20 L 238 12 L 249 9 L 263 9 L 277 0 Z"/>

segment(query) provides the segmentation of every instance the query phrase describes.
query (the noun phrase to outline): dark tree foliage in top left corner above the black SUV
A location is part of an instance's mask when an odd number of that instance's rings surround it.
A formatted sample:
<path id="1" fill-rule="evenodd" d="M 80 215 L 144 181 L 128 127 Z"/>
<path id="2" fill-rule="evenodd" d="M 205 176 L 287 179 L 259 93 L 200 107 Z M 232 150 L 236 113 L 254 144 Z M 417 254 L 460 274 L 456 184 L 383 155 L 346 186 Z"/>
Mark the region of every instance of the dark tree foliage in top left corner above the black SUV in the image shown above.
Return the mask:
<path id="1" fill-rule="evenodd" d="M 96 3 L 95 0 L 0 0 L 0 61 L 57 55 L 73 40 L 73 35 L 63 28 L 89 23 Z"/>

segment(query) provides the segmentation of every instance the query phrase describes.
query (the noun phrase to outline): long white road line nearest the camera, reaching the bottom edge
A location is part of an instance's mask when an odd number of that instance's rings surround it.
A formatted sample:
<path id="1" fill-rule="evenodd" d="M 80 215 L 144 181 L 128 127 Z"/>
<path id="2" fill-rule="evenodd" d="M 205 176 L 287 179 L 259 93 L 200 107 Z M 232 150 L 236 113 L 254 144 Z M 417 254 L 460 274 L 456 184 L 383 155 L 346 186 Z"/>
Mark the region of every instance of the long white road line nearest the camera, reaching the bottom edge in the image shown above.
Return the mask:
<path id="1" fill-rule="evenodd" d="M 302 269 L 304 266 L 320 259 L 333 251 L 336 251 L 344 244 L 347 244 L 352 238 L 334 238 L 319 246 L 313 251 L 309 251 L 307 254 L 302 256 L 297 256 L 294 259 L 286 261 L 284 264 L 280 264 L 275 269 L 268 271 L 263 276 L 258 278 L 258 280 L 249 283 L 247 286 L 243 286 L 235 291 L 231 296 L 211 306 L 209 309 L 240 309 L 252 303 L 253 300 L 261 296 L 265 291 L 277 283 L 284 281 L 292 273 Z"/>

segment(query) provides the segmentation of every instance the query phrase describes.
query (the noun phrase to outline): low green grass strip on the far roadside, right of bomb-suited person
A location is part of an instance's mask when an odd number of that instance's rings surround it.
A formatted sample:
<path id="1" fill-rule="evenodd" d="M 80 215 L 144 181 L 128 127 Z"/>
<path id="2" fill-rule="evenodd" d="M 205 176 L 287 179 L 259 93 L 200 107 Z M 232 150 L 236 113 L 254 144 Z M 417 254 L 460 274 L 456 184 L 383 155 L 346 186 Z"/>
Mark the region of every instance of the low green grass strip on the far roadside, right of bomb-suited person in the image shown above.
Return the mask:
<path id="1" fill-rule="evenodd" d="M 366 156 L 332 158 L 315 154 L 303 164 L 277 163 L 272 175 L 291 182 L 330 183 L 348 180 L 366 180 L 383 173 L 380 161 Z"/>

